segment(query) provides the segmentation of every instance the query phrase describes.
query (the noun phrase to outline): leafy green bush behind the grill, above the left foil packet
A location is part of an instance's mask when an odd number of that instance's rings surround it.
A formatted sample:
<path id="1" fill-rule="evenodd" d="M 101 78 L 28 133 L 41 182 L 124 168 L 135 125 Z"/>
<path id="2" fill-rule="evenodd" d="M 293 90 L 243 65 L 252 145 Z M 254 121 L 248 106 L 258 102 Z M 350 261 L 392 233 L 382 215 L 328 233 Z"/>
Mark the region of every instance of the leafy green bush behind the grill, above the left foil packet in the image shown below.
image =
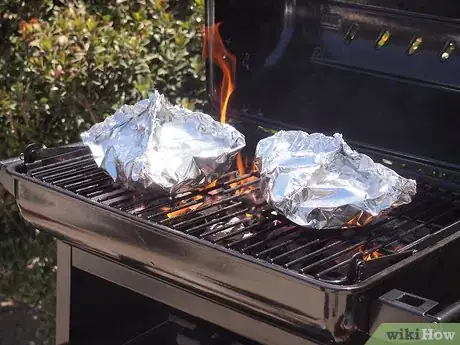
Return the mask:
<path id="1" fill-rule="evenodd" d="M 152 88 L 201 105 L 203 1 L 66 2 L 44 8 L 43 20 L 19 20 L 0 62 L 0 155 L 75 141 Z"/>

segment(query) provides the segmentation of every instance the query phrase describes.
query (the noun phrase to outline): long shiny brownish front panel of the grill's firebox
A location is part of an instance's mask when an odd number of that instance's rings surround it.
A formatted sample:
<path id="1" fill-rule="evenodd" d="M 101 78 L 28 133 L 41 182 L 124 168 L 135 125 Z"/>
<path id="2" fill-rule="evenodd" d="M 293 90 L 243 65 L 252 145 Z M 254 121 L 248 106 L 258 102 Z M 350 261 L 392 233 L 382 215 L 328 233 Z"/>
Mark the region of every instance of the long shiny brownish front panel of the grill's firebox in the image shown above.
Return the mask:
<path id="1" fill-rule="evenodd" d="M 230 250 L 205 245 L 161 225 L 152 227 L 151 223 L 121 212 L 115 211 L 102 219 L 100 205 L 96 203 L 73 200 L 79 205 L 74 207 L 68 197 L 57 191 L 30 187 L 19 183 L 19 207 L 24 218 L 36 227 L 117 260 L 129 258 L 145 265 L 152 273 L 209 296 L 238 303 L 256 314 L 291 325 L 326 327 L 324 313 L 333 315 L 330 308 L 346 306 L 346 295 L 332 294 L 329 299 L 334 302 L 329 304 L 325 292 L 314 288 L 306 277 L 248 262 Z M 42 204 L 50 194 L 56 199 Z M 72 210 L 70 222 L 63 219 L 62 209 Z M 297 296 L 303 294 L 314 298 L 299 304 Z M 334 323 L 332 319 L 328 322 Z"/>

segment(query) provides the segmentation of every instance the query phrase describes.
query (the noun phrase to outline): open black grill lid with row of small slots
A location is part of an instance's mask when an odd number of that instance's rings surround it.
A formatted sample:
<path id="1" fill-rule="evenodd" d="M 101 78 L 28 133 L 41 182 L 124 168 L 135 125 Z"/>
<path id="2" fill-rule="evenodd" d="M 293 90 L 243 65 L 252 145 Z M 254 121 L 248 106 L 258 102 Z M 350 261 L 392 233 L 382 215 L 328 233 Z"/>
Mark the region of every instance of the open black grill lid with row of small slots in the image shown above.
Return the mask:
<path id="1" fill-rule="evenodd" d="M 237 57 L 232 117 L 457 164 L 460 2 L 210 0 Z M 211 97 L 221 73 L 208 65 Z"/>

